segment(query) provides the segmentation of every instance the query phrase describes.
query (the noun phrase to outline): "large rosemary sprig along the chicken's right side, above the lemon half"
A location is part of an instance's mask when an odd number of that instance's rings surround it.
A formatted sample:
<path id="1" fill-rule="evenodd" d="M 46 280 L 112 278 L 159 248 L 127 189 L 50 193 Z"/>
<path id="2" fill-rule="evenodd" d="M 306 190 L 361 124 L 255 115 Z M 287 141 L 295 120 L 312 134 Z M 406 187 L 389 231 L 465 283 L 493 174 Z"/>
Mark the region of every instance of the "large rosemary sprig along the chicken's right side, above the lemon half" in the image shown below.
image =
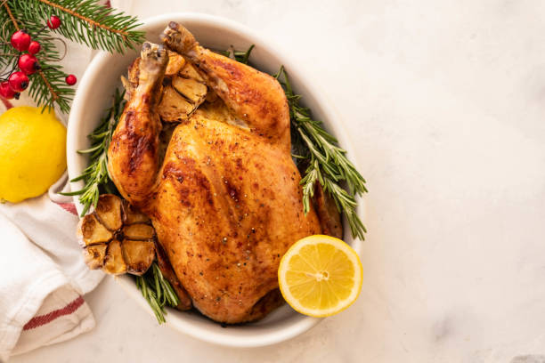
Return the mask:
<path id="1" fill-rule="evenodd" d="M 338 147 L 337 139 L 323 129 L 320 121 L 313 120 L 310 109 L 299 104 L 301 95 L 293 92 L 283 66 L 273 77 L 280 82 L 288 99 L 292 137 L 294 141 L 302 141 L 306 146 L 306 150 L 298 153 L 303 155 L 294 155 L 308 161 L 305 176 L 301 180 L 304 212 L 310 209 L 314 184 L 319 181 L 323 190 L 335 200 L 338 211 L 346 215 L 354 238 L 364 239 L 363 234 L 367 230 L 356 214 L 357 202 L 354 198 L 355 195 L 367 192 L 362 174 L 348 160 L 346 150 Z M 343 182 L 346 182 L 348 191 L 341 186 Z"/>

